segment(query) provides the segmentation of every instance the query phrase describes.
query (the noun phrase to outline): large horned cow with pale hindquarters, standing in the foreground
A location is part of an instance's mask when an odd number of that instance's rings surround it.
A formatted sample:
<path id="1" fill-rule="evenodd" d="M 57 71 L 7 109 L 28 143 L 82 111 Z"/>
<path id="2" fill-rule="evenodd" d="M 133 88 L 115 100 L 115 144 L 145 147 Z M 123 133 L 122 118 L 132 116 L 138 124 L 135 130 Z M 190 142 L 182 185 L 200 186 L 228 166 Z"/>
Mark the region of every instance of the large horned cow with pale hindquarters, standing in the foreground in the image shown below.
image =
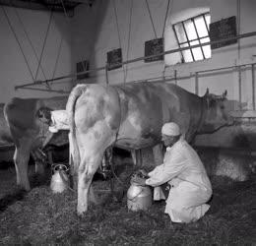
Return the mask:
<path id="1" fill-rule="evenodd" d="M 69 95 L 70 144 L 78 172 L 79 215 L 88 210 L 89 191 L 103 153 L 111 145 L 141 149 L 160 143 L 165 122 L 180 125 L 189 141 L 231 122 L 222 96 L 200 97 L 173 84 L 79 85 Z M 72 150 L 71 150 L 72 151 Z"/>

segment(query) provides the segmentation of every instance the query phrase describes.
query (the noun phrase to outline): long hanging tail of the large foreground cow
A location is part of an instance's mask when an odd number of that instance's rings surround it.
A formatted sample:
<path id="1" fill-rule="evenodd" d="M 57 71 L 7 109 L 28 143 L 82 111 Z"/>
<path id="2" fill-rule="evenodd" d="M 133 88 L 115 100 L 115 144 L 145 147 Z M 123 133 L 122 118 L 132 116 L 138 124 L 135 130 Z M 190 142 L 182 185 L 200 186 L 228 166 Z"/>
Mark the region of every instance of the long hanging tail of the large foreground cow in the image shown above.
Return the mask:
<path id="1" fill-rule="evenodd" d="M 75 109 L 78 98 L 86 91 L 86 85 L 79 85 L 75 87 L 69 95 L 66 110 L 69 118 L 69 144 L 70 144 L 70 164 L 73 162 L 73 170 L 76 172 L 81 160 L 79 147 L 76 137 L 76 124 L 75 124 Z"/>

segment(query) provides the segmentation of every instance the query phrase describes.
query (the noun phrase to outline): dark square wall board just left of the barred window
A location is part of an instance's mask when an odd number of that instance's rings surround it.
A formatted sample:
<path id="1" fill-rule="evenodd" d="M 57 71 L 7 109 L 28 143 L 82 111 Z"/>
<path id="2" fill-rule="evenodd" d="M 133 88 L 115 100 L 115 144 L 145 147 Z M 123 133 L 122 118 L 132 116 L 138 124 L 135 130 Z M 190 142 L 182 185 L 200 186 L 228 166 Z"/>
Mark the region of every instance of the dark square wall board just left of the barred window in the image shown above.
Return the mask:
<path id="1" fill-rule="evenodd" d="M 163 38 L 152 39 L 145 42 L 145 56 L 157 55 L 163 52 Z M 163 55 L 145 58 L 145 62 L 163 60 Z"/>

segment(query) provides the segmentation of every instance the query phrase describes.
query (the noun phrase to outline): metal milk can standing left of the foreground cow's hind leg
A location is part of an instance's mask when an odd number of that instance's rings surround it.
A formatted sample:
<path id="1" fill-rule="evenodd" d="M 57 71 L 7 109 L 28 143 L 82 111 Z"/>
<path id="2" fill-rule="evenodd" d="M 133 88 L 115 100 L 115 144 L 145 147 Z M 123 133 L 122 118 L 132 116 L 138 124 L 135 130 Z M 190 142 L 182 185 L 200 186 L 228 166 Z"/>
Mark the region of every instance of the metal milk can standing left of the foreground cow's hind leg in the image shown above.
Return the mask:
<path id="1" fill-rule="evenodd" d="M 68 167 L 62 163 L 52 167 L 53 175 L 51 177 L 50 188 L 53 193 L 62 193 L 69 187 L 68 170 Z"/>

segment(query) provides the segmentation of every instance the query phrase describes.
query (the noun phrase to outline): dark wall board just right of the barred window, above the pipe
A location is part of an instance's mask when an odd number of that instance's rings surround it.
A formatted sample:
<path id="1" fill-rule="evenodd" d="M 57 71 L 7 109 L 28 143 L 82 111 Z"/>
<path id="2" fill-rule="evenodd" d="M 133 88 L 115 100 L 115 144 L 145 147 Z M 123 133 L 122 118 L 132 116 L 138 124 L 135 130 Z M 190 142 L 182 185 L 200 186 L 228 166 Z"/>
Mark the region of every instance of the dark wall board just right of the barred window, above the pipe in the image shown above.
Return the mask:
<path id="1" fill-rule="evenodd" d="M 211 41 L 217 41 L 220 39 L 236 36 L 236 19 L 235 16 L 223 19 L 216 23 L 210 24 L 210 39 Z M 211 48 L 216 49 L 226 45 L 236 43 L 237 40 L 229 40 L 212 44 Z"/>

